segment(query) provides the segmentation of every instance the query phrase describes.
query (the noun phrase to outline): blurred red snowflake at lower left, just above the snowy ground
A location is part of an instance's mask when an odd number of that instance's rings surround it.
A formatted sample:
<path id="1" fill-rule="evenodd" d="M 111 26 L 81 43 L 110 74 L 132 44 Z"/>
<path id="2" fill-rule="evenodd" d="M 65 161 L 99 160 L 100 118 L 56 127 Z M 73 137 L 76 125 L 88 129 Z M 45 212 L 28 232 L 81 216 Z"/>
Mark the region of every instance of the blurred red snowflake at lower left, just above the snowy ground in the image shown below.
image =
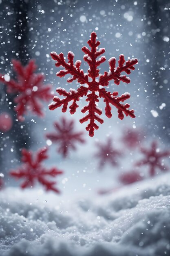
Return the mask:
<path id="1" fill-rule="evenodd" d="M 15 177 L 16 179 L 24 179 L 20 187 L 25 189 L 27 187 L 34 186 L 35 181 L 38 181 L 42 184 L 46 190 L 53 190 L 56 193 L 60 193 L 60 191 L 55 188 L 55 181 L 49 181 L 47 177 L 55 177 L 59 174 L 62 174 L 62 171 L 59 171 L 57 168 L 53 167 L 47 170 L 43 165 L 42 161 L 48 158 L 47 148 L 41 148 L 33 157 L 33 153 L 31 151 L 22 149 L 22 159 L 21 161 L 24 163 L 17 170 L 10 171 L 10 175 Z"/>

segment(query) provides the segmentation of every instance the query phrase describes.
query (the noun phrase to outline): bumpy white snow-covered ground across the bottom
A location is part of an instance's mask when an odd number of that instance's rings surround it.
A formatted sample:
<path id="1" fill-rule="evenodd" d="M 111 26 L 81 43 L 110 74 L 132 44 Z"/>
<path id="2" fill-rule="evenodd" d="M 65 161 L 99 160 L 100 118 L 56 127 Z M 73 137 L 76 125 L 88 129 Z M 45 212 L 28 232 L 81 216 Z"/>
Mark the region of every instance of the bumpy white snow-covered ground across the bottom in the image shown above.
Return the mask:
<path id="1" fill-rule="evenodd" d="M 38 189 L 1 191 L 0 256 L 170 255 L 169 178 L 73 200 Z"/>

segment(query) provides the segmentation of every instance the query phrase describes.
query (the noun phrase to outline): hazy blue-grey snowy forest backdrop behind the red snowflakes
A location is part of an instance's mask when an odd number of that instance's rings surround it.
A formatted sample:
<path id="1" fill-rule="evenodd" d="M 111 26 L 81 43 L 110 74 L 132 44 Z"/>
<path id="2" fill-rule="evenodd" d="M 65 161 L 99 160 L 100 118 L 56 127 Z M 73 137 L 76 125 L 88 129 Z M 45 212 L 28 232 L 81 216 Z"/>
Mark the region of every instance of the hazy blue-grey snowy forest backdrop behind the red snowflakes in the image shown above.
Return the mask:
<path id="1" fill-rule="evenodd" d="M 119 95 L 129 92 L 130 109 L 135 110 L 135 119 L 118 119 L 113 108 L 113 117 L 108 119 L 104 112 L 104 124 L 99 125 L 93 138 L 85 130 L 86 124 L 80 124 L 81 108 L 85 99 L 79 102 L 80 108 L 74 115 L 69 111 L 62 113 L 61 108 L 50 111 L 44 103 L 45 117 L 26 116 L 25 121 L 16 120 L 13 107 L 13 95 L 7 94 L 1 86 L 0 113 L 7 112 L 13 118 L 13 126 L 1 133 L 0 173 L 4 174 L 5 186 L 17 186 L 8 176 L 9 170 L 20 164 L 21 148 L 38 150 L 48 145 L 47 132 L 54 130 L 54 121 L 61 117 L 75 121 L 76 131 L 84 132 L 85 144 L 77 144 L 77 151 L 71 151 L 63 158 L 57 151 L 57 145 L 49 146 L 47 166 L 57 166 L 64 171 L 58 180 L 62 193 L 87 193 L 99 188 L 118 186 L 116 179 L 120 173 L 131 170 L 133 162 L 139 160 L 137 150 L 131 150 L 122 143 L 121 137 L 127 128 L 138 130 L 144 139 L 144 145 L 150 146 L 157 140 L 160 148 L 169 149 L 170 142 L 170 1 L 169 0 L 0 0 L 0 73 L 15 77 L 11 59 L 18 59 L 26 65 L 29 59 L 36 60 L 38 72 L 45 75 L 44 83 L 56 88 L 76 89 L 78 83 L 70 86 L 66 78 L 55 75 L 60 68 L 50 57 L 50 52 L 58 54 L 68 51 L 75 54 L 75 60 L 82 61 L 84 72 L 88 69 L 83 61 L 82 47 L 92 31 L 97 33 L 100 47 L 105 47 L 106 60 L 100 66 L 100 72 L 108 71 L 108 59 L 124 54 L 125 59 L 138 58 L 139 64 L 129 75 L 131 83 L 110 83 L 109 90 L 117 90 Z M 51 101 L 49 101 L 51 103 Z M 104 109 L 101 101 L 100 108 Z M 98 170 L 97 141 L 104 143 L 113 139 L 113 146 L 122 157 L 118 166 L 109 163 L 103 171 Z M 46 144 L 47 143 L 47 144 Z M 143 168 L 143 167 L 142 167 Z M 146 169 L 146 168 L 145 168 Z M 141 171 L 145 171 L 143 168 Z"/>

